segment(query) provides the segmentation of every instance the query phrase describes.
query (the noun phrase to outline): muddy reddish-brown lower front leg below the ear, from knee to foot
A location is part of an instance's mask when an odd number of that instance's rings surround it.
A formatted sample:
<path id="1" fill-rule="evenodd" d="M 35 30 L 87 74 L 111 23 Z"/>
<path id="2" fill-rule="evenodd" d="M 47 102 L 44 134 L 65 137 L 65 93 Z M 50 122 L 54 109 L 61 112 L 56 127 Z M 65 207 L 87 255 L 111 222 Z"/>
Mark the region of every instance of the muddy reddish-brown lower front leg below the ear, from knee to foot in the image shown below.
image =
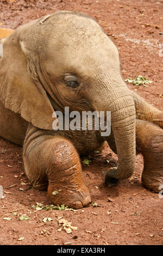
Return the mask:
<path id="1" fill-rule="evenodd" d="M 65 204 L 74 209 L 87 206 L 91 197 L 84 184 L 79 156 L 73 145 L 66 139 L 55 138 L 52 160 L 48 170 L 48 196 L 53 204 Z"/>

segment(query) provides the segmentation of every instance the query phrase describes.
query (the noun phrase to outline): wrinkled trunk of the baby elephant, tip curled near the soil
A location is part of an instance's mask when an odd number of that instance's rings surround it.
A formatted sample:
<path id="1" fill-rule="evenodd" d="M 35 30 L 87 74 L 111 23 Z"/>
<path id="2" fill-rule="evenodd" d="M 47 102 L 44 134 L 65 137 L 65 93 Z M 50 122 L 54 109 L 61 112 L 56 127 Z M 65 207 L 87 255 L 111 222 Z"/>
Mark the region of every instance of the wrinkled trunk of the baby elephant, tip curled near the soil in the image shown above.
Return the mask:
<path id="1" fill-rule="evenodd" d="M 96 101 L 95 104 L 98 105 L 98 111 L 111 112 L 111 127 L 116 142 L 118 167 L 110 169 L 107 176 L 126 179 L 135 170 L 135 105 L 122 78 L 116 78 L 113 82 L 104 84 L 102 93 L 98 93 L 98 95 L 101 94 L 100 103 Z"/>

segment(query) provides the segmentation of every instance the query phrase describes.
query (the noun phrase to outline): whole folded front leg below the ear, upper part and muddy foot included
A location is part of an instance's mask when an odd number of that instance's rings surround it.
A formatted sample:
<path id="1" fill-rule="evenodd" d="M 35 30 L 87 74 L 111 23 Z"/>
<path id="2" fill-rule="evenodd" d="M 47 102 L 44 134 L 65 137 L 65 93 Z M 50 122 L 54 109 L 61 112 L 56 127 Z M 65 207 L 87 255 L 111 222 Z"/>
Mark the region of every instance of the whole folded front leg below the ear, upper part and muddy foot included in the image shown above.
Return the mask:
<path id="1" fill-rule="evenodd" d="M 78 209 L 90 203 L 78 153 L 67 139 L 29 124 L 23 161 L 29 181 L 40 190 L 48 187 L 53 204 Z"/>

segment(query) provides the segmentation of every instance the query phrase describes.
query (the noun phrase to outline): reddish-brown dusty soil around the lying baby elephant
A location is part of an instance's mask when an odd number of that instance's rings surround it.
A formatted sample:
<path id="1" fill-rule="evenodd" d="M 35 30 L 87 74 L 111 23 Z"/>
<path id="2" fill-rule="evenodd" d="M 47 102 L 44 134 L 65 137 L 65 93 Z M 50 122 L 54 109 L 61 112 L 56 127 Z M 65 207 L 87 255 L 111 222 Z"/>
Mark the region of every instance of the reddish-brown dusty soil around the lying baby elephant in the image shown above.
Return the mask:
<path id="1" fill-rule="evenodd" d="M 142 75 L 152 80 L 147 88 L 134 87 L 141 96 L 163 110 L 162 63 L 163 1 L 161 0 L 0 0 L 0 23 L 15 29 L 28 21 L 57 10 L 81 11 L 92 16 L 118 47 L 124 79 Z M 89 166 L 83 165 L 83 176 L 91 192 L 89 208 L 76 212 L 32 209 L 36 202 L 49 205 L 46 191 L 28 185 L 22 163 L 22 148 L 0 139 L 1 245 L 161 245 L 163 241 L 162 200 L 142 186 L 143 159 L 136 158 L 136 172 L 120 185 L 107 188 L 104 175 L 115 166 L 117 158 L 106 147 L 94 154 Z M 107 162 L 108 160 L 109 162 Z M 26 184 L 26 185 L 25 185 Z M 23 190 L 20 190 L 22 188 Z M 17 212 L 17 216 L 13 215 Z M 22 215 L 29 220 L 20 221 Z M 57 218 L 63 216 L 78 229 L 71 234 L 58 231 Z M 11 220 L 3 218 L 10 217 Z M 44 223 L 45 217 L 52 221 Z M 43 231 L 44 230 L 44 231 Z M 46 231 L 45 231 L 46 230 Z M 91 231 L 91 232 L 87 232 Z M 23 240 L 18 240 L 24 237 Z"/>

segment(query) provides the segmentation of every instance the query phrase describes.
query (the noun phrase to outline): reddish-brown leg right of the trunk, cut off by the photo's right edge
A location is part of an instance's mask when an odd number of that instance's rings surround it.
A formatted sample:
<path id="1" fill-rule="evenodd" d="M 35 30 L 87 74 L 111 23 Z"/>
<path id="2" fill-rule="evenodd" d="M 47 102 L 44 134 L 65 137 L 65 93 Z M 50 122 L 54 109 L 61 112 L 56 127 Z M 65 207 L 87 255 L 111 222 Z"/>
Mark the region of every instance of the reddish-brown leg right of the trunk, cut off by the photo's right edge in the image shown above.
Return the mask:
<path id="1" fill-rule="evenodd" d="M 142 183 L 155 192 L 163 186 L 163 130 L 146 121 L 136 121 L 137 149 L 143 155 Z"/>

